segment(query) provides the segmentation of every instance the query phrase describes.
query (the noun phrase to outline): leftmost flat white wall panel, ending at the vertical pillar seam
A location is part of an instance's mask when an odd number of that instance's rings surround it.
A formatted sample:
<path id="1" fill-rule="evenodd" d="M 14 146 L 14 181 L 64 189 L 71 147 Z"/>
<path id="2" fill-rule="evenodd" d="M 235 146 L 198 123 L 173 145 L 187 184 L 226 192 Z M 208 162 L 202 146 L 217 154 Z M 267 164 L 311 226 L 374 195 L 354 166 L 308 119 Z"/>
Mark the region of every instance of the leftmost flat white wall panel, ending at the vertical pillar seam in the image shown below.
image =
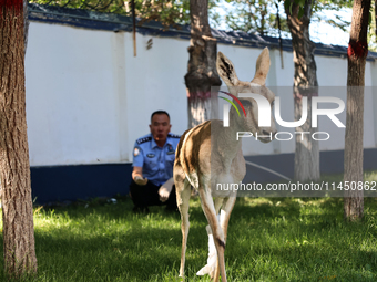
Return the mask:
<path id="1" fill-rule="evenodd" d="M 27 118 L 32 166 L 119 161 L 112 36 L 31 22 Z"/>

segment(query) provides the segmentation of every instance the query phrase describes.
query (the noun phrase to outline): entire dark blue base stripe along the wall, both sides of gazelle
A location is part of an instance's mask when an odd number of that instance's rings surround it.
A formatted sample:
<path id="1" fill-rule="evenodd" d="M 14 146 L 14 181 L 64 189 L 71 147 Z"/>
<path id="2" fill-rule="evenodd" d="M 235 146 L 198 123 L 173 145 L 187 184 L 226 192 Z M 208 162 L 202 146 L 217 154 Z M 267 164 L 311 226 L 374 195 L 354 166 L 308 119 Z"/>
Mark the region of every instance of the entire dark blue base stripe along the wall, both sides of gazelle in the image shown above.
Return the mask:
<path id="1" fill-rule="evenodd" d="M 293 178 L 294 154 L 246 157 L 247 160 L 265 166 Z M 364 169 L 377 169 L 377 148 L 364 150 Z M 344 150 L 320 152 L 320 173 L 343 173 Z M 95 197 L 128 195 L 131 181 L 131 164 L 80 165 L 31 167 L 33 199 L 44 205 L 50 201 L 77 200 Z M 263 169 L 247 166 L 244 182 L 277 181 L 279 178 Z"/>

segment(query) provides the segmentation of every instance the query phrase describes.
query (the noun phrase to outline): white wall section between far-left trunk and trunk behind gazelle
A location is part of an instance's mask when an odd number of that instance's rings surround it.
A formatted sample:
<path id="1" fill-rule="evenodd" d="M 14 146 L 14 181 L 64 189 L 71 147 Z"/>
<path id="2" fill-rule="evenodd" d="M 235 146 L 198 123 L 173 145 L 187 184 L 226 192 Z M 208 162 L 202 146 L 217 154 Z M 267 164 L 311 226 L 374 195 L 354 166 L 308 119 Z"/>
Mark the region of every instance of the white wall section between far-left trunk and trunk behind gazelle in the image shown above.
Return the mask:
<path id="1" fill-rule="evenodd" d="M 26 60 L 32 166 L 132 161 L 151 113 L 187 126 L 187 41 L 31 22 Z M 172 43 L 175 45 L 173 46 Z"/>

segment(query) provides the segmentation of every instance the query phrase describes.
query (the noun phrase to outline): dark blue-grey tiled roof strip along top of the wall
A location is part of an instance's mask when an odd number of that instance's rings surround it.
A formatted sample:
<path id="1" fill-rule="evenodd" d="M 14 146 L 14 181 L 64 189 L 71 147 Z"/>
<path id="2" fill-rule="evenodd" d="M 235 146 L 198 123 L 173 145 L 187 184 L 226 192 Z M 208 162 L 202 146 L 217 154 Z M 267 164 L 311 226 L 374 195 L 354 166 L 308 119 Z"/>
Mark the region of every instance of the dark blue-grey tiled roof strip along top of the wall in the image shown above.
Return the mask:
<path id="1" fill-rule="evenodd" d="M 132 18 L 115 14 L 102 13 L 83 9 L 70 9 L 55 6 L 43 6 L 37 3 L 29 3 L 29 19 L 31 21 L 59 23 L 73 25 L 92 30 L 106 31 L 132 31 Z M 139 21 L 139 20 L 136 20 Z M 179 25 L 177 28 L 166 29 L 160 22 L 150 21 L 143 23 L 142 27 L 136 28 L 136 32 L 144 35 L 180 38 L 190 40 L 190 25 Z M 212 35 L 217 39 L 218 43 L 251 46 L 279 49 L 278 38 L 264 36 L 238 31 L 223 31 L 212 29 Z M 292 40 L 283 39 L 283 50 L 292 52 Z M 347 48 L 340 45 L 330 45 L 315 43 L 316 55 L 347 58 Z M 377 53 L 368 52 L 367 61 L 376 61 Z"/>

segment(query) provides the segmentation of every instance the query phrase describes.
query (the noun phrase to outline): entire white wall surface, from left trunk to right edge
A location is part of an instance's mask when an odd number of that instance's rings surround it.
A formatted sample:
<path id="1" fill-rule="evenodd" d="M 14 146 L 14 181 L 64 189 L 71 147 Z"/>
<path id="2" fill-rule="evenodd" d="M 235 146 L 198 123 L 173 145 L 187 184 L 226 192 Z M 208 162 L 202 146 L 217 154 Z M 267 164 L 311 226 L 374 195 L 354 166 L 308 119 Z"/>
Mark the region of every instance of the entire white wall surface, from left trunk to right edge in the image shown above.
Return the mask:
<path id="1" fill-rule="evenodd" d="M 150 39 L 153 45 L 146 50 Z M 173 133 L 186 129 L 188 41 L 137 33 L 136 43 L 137 56 L 133 56 L 130 32 L 30 23 L 26 75 L 32 166 L 132 161 L 134 140 L 149 132 L 150 115 L 156 109 L 170 113 Z M 252 80 L 261 49 L 227 44 L 218 44 L 217 49 L 233 61 L 241 80 Z M 274 91 L 282 98 L 283 116 L 293 121 L 293 54 L 283 55 L 284 69 L 279 51 L 271 50 L 267 86 L 279 86 Z M 346 59 L 316 56 L 316 62 L 320 86 L 346 85 Z M 376 74 L 376 63 L 368 62 L 366 85 L 377 86 Z M 334 90 L 334 95 L 345 101 L 345 88 Z M 365 101 L 365 146 L 376 147 L 376 95 L 369 91 Z M 220 108 L 222 113 L 222 102 Z M 345 123 L 345 114 L 340 119 Z M 343 147 L 344 130 L 320 144 L 320 149 Z M 247 142 L 244 152 L 292 153 L 294 142 L 273 142 L 268 146 Z"/>

